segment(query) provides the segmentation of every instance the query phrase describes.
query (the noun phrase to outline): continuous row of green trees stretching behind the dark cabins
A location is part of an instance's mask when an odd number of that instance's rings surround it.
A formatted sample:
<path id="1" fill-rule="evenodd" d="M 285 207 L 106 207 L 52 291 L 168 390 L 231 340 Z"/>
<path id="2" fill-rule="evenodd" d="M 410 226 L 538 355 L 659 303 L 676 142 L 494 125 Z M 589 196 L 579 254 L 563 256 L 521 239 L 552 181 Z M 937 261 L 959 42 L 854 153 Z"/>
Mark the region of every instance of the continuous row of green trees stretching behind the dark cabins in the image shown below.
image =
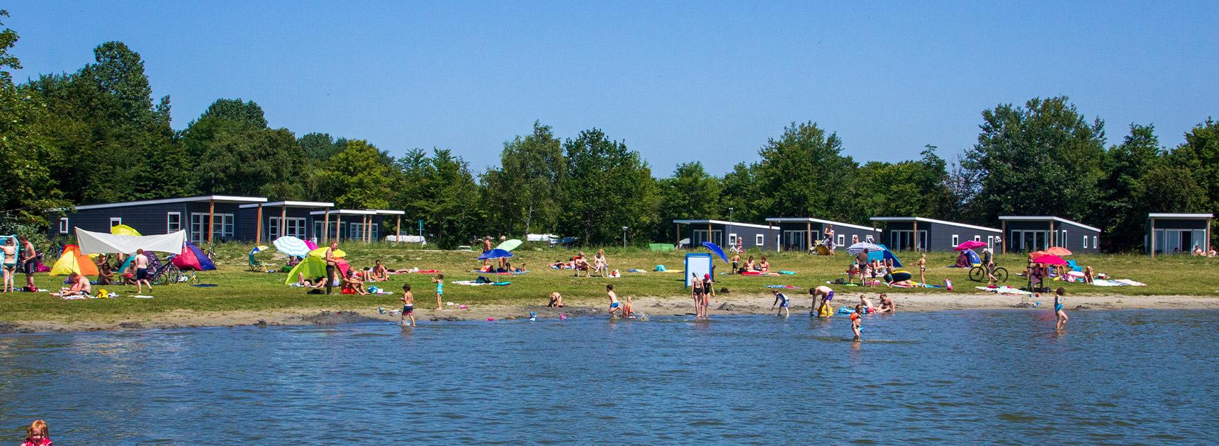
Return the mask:
<path id="1" fill-rule="evenodd" d="M 0 15 L 7 16 L 0 11 Z M 1104 123 L 1068 97 L 983 111 L 978 141 L 951 161 L 858 162 L 842 139 L 796 122 L 723 175 L 697 160 L 656 175 L 639 152 L 591 128 L 562 138 L 542 123 L 474 172 L 449 149 L 401 156 L 363 139 L 273 128 L 254 101 L 218 99 L 184 129 L 152 97 L 139 54 L 118 41 L 73 73 L 16 83 L 17 34 L 0 33 L 2 223 L 44 227 L 72 205 L 204 194 L 334 201 L 423 219 L 441 247 L 482 234 L 553 233 L 583 244 L 672 241 L 673 219 L 803 217 L 864 223 L 920 216 L 993 225 L 1000 214 L 1054 214 L 1104 229 L 1108 251 L 1141 249 L 1147 212 L 1219 205 L 1219 124 L 1207 118 L 1165 147 L 1151 124 L 1107 145 Z M 413 224 L 403 228 L 414 233 Z"/>

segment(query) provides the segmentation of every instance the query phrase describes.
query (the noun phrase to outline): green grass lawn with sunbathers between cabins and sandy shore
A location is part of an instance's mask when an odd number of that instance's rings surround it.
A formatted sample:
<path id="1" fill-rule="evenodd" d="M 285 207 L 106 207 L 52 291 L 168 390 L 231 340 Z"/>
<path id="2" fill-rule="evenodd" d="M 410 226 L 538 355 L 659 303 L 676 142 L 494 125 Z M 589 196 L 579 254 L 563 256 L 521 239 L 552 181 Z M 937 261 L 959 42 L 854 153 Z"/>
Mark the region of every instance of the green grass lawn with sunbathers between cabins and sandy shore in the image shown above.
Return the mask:
<path id="1" fill-rule="evenodd" d="M 356 295 L 306 295 L 300 288 L 284 285 L 286 274 L 284 273 L 260 273 L 249 272 L 246 268 L 246 252 L 249 245 L 222 244 L 217 246 L 216 263 L 218 271 L 199 273 L 204 283 L 217 284 L 215 288 L 195 288 L 184 284 L 157 286 L 152 292 L 155 299 L 140 300 L 128 296 L 135 294 L 135 286 L 101 286 L 121 294 L 119 299 L 99 299 L 66 301 L 49 296 L 44 292 L 16 292 L 0 295 L 0 319 L 2 320 L 112 320 L 128 317 L 155 317 L 155 313 L 190 311 L 278 311 L 294 308 L 374 308 L 377 306 L 391 307 L 396 302 L 396 296 L 356 296 Z M 403 247 L 393 244 L 344 244 L 341 246 L 347 252 L 347 260 L 354 267 L 371 266 L 374 260 L 382 260 L 389 268 L 405 269 L 418 267 L 421 269 L 440 269 L 445 274 L 445 301 L 466 305 L 480 303 L 510 303 L 510 305 L 544 305 L 546 296 L 552 291 L 563 294 L 564 301 L 570 303 L 603 303 L 605 285 L 614 284 L 619 295 L 631 296 L 683 296 L 684 274 L 681 273 L 627 273 L 629 268 L 651 271 L 656 264 L 664 264 L 670 271 L 683 268 L 685 251 L 651 252 L 639 249 L 607 249 L 611 268 L 623 272 L 620 279 L 603 278 L 575 278 L 570 271 L 558 271 L 546 267 L 547 263 L 569 258 L 574 251 L 533 249 L 522 246 L 517 250 L 514 264 L 527 263 L 530 272 L 523 275 L 500 275 L 503 280 L 511 280 L 508 286 L 461 286 L 447 284 L 451 280 L 472 280 L 479 273 L 472 272 L 480 262 L 475 261 L 477 252 L 462 251 L 430 251 L 414 247 Z M 586 251 L 589 255 L 595 250 Z M 761 257 L 762 252 L 751 252 L 755 257 Z M 731 300 L 733 296 L 759 295 L 767 292 L 762 285 L 785 284 L 808 288 L 811 285 L 824 284 L 842 277 L 851 257 L 845 253 L 837 256 L 809 256 L 796 252 L 769 252 L 773 271 L 792 271 L 797 275 L 784 277 L 742 277 L 717 274 L 717 289 L 728 288 L 731 292 L 720 295 L 720 299 Z M 269 257 L 269 256 L 268 256 Z M 914 253 L 900 253 L 907 268 L 915 273 Z M 889 289 L 872 288 L 873 292 L 975 292 L 974 286 L 981 285 L 967 278 L 965 269 L 945 268 L 952 264 L 956 258 L 954 252 L 933 252 L 928 255 L 926 279 L 931 284 L 941 284 L 945 279 L 952 279 L 954 291 L 945 289 Z M 1219 260 L 1197 258 L 1191 256 L 1160 256 L 1154 261 L 1147 256 L 1134 255 L 1085 255 L 1074 256 L 1080 264 L 1091 264 L 1097 272 L 1103 272 L 1114 278 L 1126 278 L 1146 283 L 1147 286 L 1121 286 L 1101 288 L 1084 284 L 1063 284 L 1068 294 L 1093 294 L 1093 295 L 1206 295 L 1219 297 L 1219 273 L 1215 266 Z M 283 264 L 282 258 L 271 258 L 269 262 Z M 998 264 L 1007 267 L 1012 272 L 1009 285 L 1023 286 L 1024 279 L 1015 277 L 1023 271 L 1023 255 L 998 256 Z M 725 264 L 717 261 L 718 272 L 725 272 Z M 488 275 L 488 274 L 483 274 Z M 488 275 L 491 277 L 491 275 Z M 40 288 L 59 289 L 62 277 L 52 278 L 46 274 L 37 277 Z M 18 284 L 24 283 L 24 275 L 17 277 Z M 410 283 L 416 291 L 417 305 L 428 308 L 429 302 L 434 302 L 434 292 L 425 274 L 399 274 L 390 275 L 388 283 L 379 283 L 378 286 L 399 291 L 403 283 Z M 1057 285 L 1056 285 L 1057 286 Z M 96 290 L 99 286 L 94 286 Z M 858 289 L 863 291 L 864 289 Z"/>

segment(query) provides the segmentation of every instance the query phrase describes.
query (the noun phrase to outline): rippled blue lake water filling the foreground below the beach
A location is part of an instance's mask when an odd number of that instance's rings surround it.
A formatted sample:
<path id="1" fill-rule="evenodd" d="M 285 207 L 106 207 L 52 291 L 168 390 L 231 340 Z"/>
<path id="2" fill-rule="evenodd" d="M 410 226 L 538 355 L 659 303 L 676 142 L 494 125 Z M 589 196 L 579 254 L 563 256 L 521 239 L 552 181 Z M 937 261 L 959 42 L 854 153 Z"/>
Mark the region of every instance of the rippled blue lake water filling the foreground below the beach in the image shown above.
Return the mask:
<path id="1" fill-rule="evenodd" d="M 0 444 L 1219 442 L 1219 312 L 0 336 Z"/>

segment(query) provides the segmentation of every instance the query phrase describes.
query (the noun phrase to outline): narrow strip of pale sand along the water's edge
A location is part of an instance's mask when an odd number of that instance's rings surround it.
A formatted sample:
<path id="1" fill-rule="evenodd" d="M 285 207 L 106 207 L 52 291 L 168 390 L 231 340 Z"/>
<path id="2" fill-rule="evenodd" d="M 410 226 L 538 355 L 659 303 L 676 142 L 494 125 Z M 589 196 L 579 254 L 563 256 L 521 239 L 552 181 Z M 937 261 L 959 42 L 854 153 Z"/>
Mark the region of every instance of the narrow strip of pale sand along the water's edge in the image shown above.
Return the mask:
<path id="1" fill-rule="evenodd" d="M 811 301 L 807 295 L 789 294 L 791 300 L 792 317 L 805 316 L 811 310 Z M 873 303 L 876 303 L 875 295 L 869 294 Z M 1041 306 L 1029 307 L 1019 296 L 996 295 L 990 292 L 969 295 L 940 295 L 940 294 L 895 294 L 891 295 L 901 312 L 926 312 L 926 311 L 952 311 L 952 310 L 1012 310 L 1012 311 L 1046 311 L 1046 306 L 1052 305 L 1052 296 L 1042 296 Z M 1036 301 L 1030 299 L 1030 301 Z M 774 297 L 770 295 L 731 296 L 728 299 L 713 299 L 711 316 L 729 314 L 773 314 L 770 305 Z M 834 300 L 835 307 L 842 305 L 855 305 L 858 295 L 842 292 Z M 397 308 L 393 305 L 379 305 L 386 311 Z M 290 311 L 274 312 L 193 312 L 173 311 L 167 313 L 151 313 L 140 317 L 127 317 L 121 319 L 102 320 L 20 320 L 0 323 L 0 333 L 41 333 L 41 331 L 99 331 L 99 330 L 144 330 L 144 329 L 176 329 L 195 327 L 240 327 L 240 325 L 333 325 L 374 320 L 397 320 L 396 314 L 382 314 L 378 305 L 369 305 L 367 308 L 295 308 Z M 690 297 L 636 297 L 634 299 L 636 313 L 646 316 L 685 316 L 694 314 Z M 1091 310 L 1219 310 L 1219 299 L 1209 296 L 1068 296 L 1068 311 Z M 523 305 L 475 305 L 468 308 L 458 308 L 457 305 L 446 306 L 445 310 L 433 310 L 417 307 L 416 319 L 421 323 L 456 322 L 456 320 L 486 320 L 489 318 L 521 319 L 528 318 L 530 312 L 536 312 L 539 318 L 567 317 L 606 317 L 606 307 L 580 301 L 567 305 L 564 308 L 547 308 L 544 302 L 536 306 Z"/>

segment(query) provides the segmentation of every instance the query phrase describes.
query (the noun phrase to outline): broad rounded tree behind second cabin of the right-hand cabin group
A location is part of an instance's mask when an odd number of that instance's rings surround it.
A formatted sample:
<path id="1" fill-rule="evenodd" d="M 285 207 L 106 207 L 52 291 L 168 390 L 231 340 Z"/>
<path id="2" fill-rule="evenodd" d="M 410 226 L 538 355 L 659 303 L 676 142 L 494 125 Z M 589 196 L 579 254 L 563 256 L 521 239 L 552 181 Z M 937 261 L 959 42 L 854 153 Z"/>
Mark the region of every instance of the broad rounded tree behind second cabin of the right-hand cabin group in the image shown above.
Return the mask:
<path id="1" fill-rule="evenodd" d="M 758 155 L 762 213 L 770 217 L 848 217 L 856 163 L 842 154 L 842 140 L 813 122 L 792 123 Z"/>

